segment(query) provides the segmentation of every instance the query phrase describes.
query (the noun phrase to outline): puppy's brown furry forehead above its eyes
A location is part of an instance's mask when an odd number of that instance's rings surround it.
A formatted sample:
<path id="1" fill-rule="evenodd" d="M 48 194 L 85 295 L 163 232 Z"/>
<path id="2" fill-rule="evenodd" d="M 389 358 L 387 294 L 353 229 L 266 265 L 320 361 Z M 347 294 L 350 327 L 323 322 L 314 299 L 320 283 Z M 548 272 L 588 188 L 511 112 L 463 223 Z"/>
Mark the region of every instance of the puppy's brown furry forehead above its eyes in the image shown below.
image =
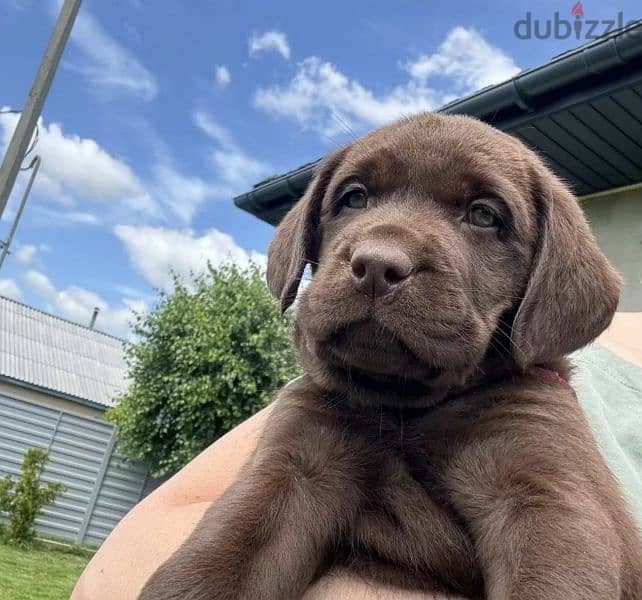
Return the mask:
<path id="1" fill-rule="evenodd" d="M 399 190 L 435 200 L 502 190 L 510 196 L 528 181 L 527 154 L 516 139 L 474 119 L 426 115 L 356 141 L 332 180 L 358 179 L 378 196 Z"/>

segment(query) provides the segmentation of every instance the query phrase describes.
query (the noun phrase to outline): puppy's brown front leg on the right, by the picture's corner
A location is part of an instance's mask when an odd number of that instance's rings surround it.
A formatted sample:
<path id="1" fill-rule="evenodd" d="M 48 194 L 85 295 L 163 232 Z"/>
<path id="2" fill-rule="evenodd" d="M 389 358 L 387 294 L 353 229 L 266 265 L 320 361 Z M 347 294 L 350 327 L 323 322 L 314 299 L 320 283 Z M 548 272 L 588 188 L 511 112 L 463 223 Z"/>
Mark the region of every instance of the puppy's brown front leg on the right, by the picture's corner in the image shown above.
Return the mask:
<path id="1" fill-rule="evenodd" d="M 618 524 L 591 482 L 549 460 L 544 444 L 530 455 L 516 446 L 506 439 L 478 446 L 450 473 L 488 600 L 620 598 Z"/>

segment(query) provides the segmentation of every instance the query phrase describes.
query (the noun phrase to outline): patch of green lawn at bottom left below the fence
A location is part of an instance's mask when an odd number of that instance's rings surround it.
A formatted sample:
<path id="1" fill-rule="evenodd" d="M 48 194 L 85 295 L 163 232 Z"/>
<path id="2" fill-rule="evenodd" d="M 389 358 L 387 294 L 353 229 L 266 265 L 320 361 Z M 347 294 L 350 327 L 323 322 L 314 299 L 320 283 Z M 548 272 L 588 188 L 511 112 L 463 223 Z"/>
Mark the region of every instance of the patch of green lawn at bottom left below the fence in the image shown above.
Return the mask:
<path id="1" fill-rule="evenodd" d="M 0 600 L 68 600 L 89 556 L 0 542 Z"/>

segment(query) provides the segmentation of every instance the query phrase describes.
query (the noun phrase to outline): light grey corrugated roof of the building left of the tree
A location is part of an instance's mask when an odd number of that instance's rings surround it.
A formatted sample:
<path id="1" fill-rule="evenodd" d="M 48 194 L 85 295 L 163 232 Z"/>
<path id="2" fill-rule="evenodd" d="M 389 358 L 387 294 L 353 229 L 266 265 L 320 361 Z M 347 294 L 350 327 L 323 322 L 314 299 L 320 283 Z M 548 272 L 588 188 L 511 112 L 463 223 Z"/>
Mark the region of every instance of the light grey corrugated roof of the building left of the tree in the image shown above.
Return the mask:
<path id="1" fill-rule="evenodd" d="M 124 344 L 0 296 L 0 379 L 109 407 L 126 386 Z"/>

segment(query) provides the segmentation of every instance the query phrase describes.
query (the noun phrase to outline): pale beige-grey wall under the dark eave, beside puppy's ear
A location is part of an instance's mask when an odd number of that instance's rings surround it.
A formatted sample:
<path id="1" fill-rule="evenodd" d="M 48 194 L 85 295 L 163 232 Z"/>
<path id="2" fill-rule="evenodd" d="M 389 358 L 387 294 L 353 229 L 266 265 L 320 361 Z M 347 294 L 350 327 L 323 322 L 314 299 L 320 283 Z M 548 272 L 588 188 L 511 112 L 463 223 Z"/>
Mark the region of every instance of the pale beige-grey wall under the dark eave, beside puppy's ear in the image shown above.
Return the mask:
<path id="1" fill-rule="evenodd" d="M 587 197 L 582 208 L 602 250 L 624 277 L 619 310 L 642 311 L 642 187 Z"/>

